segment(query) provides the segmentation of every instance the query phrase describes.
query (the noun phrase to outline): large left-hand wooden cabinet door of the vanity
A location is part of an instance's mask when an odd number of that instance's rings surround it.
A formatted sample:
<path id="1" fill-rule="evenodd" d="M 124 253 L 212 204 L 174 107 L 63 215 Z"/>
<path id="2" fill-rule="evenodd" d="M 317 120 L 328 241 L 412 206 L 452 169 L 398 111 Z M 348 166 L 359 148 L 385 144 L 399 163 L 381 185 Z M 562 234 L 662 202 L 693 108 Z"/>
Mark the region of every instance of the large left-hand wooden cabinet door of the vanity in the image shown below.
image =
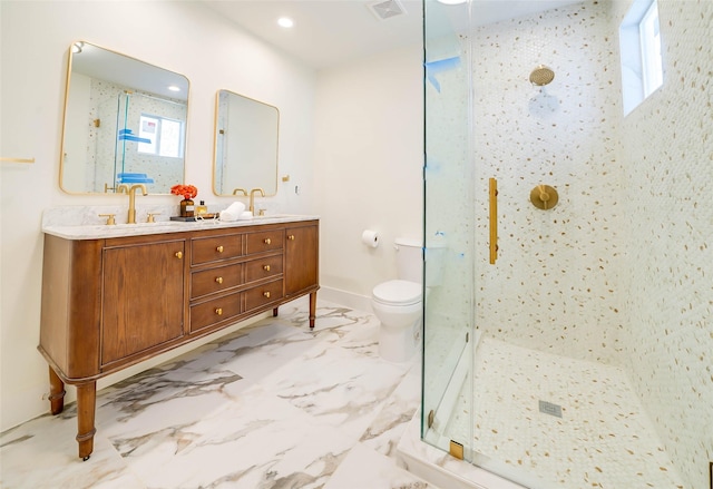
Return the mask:
<path id="1" fill-rule="evenodd" d="M 185 242 L 104 250 L 101 365 L 183 335 Z"/>

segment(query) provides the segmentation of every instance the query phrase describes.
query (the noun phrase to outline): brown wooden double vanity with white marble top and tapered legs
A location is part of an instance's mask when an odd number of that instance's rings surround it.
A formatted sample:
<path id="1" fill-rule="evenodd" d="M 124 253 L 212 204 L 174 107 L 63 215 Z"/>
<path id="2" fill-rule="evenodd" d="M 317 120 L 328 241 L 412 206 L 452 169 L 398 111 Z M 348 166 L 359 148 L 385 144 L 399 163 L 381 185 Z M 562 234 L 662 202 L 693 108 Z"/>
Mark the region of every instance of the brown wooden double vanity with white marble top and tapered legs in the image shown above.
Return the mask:
<path id="1" fill-rule="evenodd" d="M 39 351 L 50 408 L 77 388 L 79 457 L 94 449 L 96 382 L 238 321 L 310 296 L 314 327 L 319 221 L 48 226 Z"/>

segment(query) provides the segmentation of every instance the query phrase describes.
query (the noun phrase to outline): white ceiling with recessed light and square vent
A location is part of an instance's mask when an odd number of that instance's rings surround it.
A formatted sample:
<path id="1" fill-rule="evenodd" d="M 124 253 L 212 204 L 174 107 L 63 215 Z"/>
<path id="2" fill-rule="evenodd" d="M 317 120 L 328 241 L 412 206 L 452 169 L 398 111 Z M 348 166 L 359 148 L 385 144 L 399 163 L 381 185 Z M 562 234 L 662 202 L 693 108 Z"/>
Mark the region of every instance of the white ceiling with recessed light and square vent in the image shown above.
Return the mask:
<path id="1" fill-rule="evenodd" d="M 421 0 L 398 0 L 404 12 L 379 19 L 370 6 L 387 0 L 204 0 L 222 17 L 252 35 L 299 58 L 315 69 L 422 42 Z M 471 23 L 492 23 L 583 0 L 470 0 Z M 468 25 L 468 6 L 443 6 L 428 0 L 433 16 L 462 29 Z M 431 19 L 429 10 L 429 19 Z M 277 18 L 291 17 L 291 29 L 277 26 Z M 429 26 L 429 36 L 432 26 Z"/>

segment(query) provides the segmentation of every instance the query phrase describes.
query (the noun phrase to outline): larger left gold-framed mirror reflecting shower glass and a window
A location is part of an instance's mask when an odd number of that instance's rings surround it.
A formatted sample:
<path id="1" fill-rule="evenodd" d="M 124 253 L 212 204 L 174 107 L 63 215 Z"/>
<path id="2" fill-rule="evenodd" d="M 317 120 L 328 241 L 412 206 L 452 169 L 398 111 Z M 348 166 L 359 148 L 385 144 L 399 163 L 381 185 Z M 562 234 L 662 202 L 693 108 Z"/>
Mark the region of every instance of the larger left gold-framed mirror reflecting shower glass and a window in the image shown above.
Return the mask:
<path id="1" fill-rule="evenodd" d="M 89 42 L 71 45 L 59 172 L 69 194 L 184 180 L 188 79 Z"/>

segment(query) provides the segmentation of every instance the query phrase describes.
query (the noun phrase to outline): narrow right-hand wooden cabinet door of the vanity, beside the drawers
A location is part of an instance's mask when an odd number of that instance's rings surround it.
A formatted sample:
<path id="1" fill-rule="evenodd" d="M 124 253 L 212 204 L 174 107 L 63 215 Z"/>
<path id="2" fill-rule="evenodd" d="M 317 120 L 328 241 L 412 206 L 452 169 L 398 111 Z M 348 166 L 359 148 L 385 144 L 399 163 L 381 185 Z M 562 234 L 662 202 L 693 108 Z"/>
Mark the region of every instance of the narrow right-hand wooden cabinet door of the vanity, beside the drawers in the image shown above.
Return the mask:
<path id="1" fill-rule="evenodd" d="M 290 296 L 318 285 L 318 226 L 285 229 L 285 295 Z"/>

